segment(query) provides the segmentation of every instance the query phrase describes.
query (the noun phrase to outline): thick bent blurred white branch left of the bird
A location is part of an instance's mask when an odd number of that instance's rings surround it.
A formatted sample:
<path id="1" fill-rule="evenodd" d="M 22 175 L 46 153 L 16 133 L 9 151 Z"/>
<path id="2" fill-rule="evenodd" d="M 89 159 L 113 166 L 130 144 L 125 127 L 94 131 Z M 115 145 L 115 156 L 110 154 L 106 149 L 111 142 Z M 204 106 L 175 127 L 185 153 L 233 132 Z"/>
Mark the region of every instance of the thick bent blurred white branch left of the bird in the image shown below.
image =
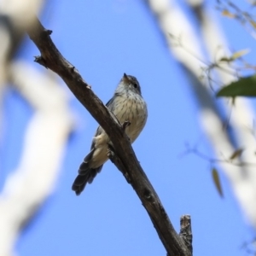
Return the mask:
<path id="1" fill-rule="evenodd" d="M 48 73 L 48 72 L 47 72 Z M 0 197 L 0 255 L 12 255 L 22 224 L 52 192 L 72 129 L 67 96 L 48 76 L 26 63 L 11 67 L 11 79 L 35 113 L 26 129 L 20 165 Z"/>

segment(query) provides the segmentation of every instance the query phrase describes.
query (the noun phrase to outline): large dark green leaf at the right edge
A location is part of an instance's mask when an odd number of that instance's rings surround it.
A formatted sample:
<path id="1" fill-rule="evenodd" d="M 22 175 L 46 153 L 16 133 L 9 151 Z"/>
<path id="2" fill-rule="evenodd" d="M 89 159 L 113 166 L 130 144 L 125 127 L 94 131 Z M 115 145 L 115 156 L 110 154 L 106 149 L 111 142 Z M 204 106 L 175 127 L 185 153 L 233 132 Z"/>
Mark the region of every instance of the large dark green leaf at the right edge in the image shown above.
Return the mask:
<path id="1" fill-rule="evenodd" d="M 256 96 L 256 75 L 241 78 L 218 91 L 217 96 Z"/>

